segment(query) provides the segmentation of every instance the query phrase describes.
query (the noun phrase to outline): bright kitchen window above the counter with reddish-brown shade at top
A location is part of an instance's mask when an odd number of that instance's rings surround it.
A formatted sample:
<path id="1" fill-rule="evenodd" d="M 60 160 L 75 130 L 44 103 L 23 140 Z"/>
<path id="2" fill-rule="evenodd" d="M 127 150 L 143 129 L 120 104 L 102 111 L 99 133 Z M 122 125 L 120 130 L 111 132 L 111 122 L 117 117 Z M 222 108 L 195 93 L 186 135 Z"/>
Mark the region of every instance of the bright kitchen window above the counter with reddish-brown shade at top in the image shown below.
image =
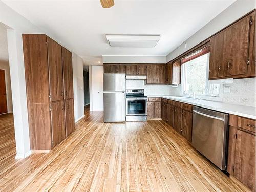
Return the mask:
<path id="1" fill-rule="evenodd" d="M 221 100 L 220 84 L 212 84 L 208 80 L 209 56 L 209 49 L 205 48 L 182 59 L 181 96 Z"/>

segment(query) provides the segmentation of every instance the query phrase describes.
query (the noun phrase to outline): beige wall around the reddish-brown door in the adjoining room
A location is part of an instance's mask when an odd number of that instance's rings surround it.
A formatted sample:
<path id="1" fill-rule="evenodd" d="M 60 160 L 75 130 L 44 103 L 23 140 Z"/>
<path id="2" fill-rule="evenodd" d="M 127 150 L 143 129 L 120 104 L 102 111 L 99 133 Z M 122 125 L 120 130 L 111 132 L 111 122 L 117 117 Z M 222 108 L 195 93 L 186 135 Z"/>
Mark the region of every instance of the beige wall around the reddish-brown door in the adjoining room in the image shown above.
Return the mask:
<path id="1" fill-rule="evenodd" d="M 10 77 L 9 61 L 0 61 L 0 69 L 5 70 L 7 109 L 8 109 L 8 113 L 11 113 L 12 112 L 12 90 L 11 90 L 11 77 Z"/>

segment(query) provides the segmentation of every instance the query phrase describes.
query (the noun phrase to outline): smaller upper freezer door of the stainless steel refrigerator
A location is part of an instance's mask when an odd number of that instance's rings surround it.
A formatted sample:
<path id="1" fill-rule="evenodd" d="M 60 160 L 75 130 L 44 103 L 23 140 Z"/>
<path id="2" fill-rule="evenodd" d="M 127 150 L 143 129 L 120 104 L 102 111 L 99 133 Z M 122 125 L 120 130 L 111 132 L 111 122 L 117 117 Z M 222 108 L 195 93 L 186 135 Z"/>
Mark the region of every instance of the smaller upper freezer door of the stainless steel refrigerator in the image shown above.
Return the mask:
<path id="1" fill-rule="evenodd" d="M 103 74 L 104 91 L 125 91 L 125 74 Z"/>

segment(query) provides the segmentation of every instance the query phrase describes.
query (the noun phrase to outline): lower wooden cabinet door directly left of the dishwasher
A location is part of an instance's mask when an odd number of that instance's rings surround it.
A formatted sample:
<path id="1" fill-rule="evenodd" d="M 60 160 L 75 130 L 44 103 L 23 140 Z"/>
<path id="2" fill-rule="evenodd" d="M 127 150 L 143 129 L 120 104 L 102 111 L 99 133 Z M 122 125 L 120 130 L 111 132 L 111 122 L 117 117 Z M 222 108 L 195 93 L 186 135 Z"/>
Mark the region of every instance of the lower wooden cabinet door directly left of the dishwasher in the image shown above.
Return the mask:
<path id="1" fill-rule="evenodd" d="M 182 135 L 191 142 L 193 113 L 182 110 Z"/>

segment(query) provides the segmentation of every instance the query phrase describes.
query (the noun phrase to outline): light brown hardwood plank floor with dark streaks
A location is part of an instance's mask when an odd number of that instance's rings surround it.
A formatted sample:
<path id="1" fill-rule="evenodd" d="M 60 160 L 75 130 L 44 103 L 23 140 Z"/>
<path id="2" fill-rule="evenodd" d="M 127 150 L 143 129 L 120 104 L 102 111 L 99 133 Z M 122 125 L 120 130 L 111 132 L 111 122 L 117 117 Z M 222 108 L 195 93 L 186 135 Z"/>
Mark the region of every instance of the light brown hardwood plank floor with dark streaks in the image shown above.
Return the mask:
<path id="1" fill-rule="evenodd" d="M 24 160 L 9 152 L 15 143 L 2 150 L 14 142 L 7 124 L 1 118 L 0 191 L 249 191 L 163 121 L 103 123 L 102 112 L 86 111 L 49 154 Z"/>

